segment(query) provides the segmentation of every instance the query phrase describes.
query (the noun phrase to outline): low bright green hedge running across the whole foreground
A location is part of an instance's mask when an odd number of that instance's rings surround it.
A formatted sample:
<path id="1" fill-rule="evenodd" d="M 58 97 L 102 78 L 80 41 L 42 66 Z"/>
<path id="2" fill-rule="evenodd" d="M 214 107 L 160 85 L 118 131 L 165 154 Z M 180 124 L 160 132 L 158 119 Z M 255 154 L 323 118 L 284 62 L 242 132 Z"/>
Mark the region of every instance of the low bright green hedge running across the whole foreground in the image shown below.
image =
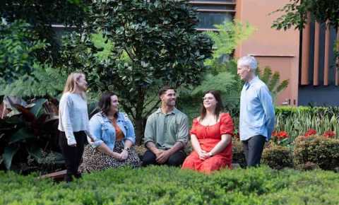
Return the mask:
<path id="1" fill-rule="evenodd" d="M 0 172 L 0 204 L 338 204 L 339 177 L 329 171 L 121 168 L 71 184 Z"/>

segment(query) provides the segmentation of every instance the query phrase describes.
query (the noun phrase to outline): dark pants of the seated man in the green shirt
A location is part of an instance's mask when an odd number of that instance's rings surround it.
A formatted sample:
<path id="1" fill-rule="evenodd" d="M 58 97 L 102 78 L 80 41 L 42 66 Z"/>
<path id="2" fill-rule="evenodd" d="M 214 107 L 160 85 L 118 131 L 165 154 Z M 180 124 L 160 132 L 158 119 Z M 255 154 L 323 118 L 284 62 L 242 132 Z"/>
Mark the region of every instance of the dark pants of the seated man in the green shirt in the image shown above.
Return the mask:
<path id="1" fill-rule="evenodd" d="M 155 156 L 152 151 L 145 151 L 145 153 L 143 154 L 143 166 L 160 165 L 159 163 L 157 163 L 156 158 L 157 156 Z M 164 164 L 179 167 L 180 165 L 182 165 L 182 163 L 184 163 L 185 158 L 186 153 L 184 153 L 184 151 L 182 150 L 179 150 L 176 153 L 172 154 L 172 156 L 169 156 L 167 162 Z"/>

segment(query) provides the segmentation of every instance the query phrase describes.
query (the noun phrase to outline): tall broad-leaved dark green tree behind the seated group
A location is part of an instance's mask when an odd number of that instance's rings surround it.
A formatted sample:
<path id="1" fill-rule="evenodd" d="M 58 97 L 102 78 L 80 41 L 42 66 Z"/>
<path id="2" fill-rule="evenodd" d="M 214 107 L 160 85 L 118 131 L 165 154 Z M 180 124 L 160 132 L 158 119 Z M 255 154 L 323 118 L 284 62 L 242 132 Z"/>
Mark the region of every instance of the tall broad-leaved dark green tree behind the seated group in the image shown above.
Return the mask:
<path id="1" fill-rule="evenodd" d="M 77 57 L 69 59 L 93 57 L 95 66 L 83 66 L 90 88 L 117 92 L 140 143 L 145 119 L 159 105 L 158 88 L 198 85 L 213 41 L 195 30 L 198 18 L 187 1 L 96 1 L 92 6 L 88 30 L 99 30 L 112 42 L 112 54 L 105 59 L 89 55 L 95 50 L 90 35 L 79 35 L 69 44 L 78 52 L 68 52 Z M 73 62 L 69 67 L 79 69 Z"/>

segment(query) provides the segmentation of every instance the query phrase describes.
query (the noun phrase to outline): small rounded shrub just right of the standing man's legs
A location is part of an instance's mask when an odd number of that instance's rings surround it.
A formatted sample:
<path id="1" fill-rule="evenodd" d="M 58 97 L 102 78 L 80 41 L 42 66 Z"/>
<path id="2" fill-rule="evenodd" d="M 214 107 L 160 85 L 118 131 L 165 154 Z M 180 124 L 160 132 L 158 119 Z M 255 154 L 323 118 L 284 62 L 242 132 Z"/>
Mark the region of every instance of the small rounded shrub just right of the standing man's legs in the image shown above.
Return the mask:
<path id="1" fill-rule="evenodd" d="M 274 145 L 264 148 L 261 163 L 278 170 L 282 168 L 292 168 L 293 160 L 290 148 Z"/>

